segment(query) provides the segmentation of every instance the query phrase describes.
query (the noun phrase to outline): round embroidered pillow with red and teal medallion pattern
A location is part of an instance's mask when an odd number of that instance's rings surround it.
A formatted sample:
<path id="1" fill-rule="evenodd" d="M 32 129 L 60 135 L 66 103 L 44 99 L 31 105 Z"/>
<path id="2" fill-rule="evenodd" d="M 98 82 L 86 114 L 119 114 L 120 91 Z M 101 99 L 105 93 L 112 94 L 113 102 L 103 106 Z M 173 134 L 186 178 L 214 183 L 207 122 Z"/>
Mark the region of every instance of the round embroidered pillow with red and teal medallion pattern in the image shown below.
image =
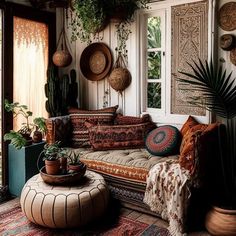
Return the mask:
<path id="1" fill-rule="evenodd" d="M 180 131 L 171 125 L 152 130 L 146 138 L 147 150 L 156 156 L 168 156 L 179 152 Z"/>

